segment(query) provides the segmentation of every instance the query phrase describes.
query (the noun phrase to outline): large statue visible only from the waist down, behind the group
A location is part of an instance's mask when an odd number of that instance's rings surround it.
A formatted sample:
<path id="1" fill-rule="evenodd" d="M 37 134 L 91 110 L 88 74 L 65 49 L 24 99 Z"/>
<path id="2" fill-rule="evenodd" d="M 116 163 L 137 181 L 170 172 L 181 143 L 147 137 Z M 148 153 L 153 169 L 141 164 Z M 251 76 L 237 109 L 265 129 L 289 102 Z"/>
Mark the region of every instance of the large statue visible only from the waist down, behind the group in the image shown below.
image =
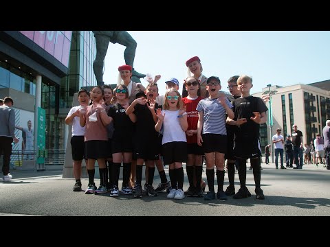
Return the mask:
<path id="1" fill-rule="evenodd" d="M 140 82 L 140 78 L 144 78 L 146 75 L 138 73 L 133 67 L 135 58 L 135 49 L 137 46 L 136 41 L 127 31 L 92 31 L 94 33 L 96 41 L 96 58 L 93 62 L 93 70 L 96 77 L 96 82 L 99 86 L 104 84 L 103 82 L 103 66 L 104 58 L 107 54 L 109 42 L 126 47 L 124 51 L 124 60 L 127 65 L 131 65 L 132 78 L 134 82 Z"/>

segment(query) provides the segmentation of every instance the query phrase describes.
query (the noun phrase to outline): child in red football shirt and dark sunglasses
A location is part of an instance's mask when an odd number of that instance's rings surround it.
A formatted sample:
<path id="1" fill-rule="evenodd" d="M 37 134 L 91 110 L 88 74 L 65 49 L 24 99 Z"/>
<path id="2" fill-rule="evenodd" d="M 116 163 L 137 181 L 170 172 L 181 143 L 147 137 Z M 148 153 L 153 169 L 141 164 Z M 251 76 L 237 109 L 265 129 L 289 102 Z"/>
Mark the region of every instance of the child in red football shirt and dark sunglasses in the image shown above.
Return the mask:
<path id="1" fill-rule="evenodd" d="M 189 180 L 189 188 L 187 191 L 188 197 L 203 196 L 203 190 L 201 189 L 201 183 L 196 181 L 201 180 L 201 174 L 203 172 L 203 149 L 197 144 L 197 123 L 198 123 L 198 111 L 196 110 L 197 104 L 203 99 L 198 96 L 200 89 L 199 80 L 194 76 L 188 77 L 185 80 L 184 86 L 188 92 L 188 96 L 182 99 L 184 106 L 186 106 L 188 130 L 186 130 L 187 138 L 187 154 L 188 161 L 186 163 L 186 172 Z"/>

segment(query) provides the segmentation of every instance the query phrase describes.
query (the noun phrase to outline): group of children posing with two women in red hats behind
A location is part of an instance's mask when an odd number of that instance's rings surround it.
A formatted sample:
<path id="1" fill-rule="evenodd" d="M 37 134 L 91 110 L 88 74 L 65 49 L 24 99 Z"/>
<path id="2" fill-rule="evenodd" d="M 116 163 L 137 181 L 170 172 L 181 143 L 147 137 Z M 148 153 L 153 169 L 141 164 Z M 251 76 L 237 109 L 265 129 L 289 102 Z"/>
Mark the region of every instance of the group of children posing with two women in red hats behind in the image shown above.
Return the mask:
<path id="1" fill-rule="evenodd" d="M 89 185 L 85 193 L 107 193 L 109 190 L 110 196 L 118 196 L 122 164 L 121 193 L 132 194 L 135 191 L 134 197 L 140 198 L 142 165 L 145 163 L 146 195 L 157 196 L 157 192 L 170 188 L 167 198 L 183 199 L 182 164 L 186 163 L 189 180 L 187 196 L 203 196 L 204 200 L 214 200 L 216 174 L 217 199 L 227 200 L 227 196 L 231 195 L 236 199 L 247 198 L 251 193 L 245 186 L 246 159 L 251 158 L 256 198 L 264 199 L 260 186 L 259 126 L 265 123 L 267 107 L 262 99 L 250 95 L 252 78 L 247 75 L 230 78 L 228 89 L 232 97 L 227 97 L 219 92 L 221 82 L 216 76 L 201 82 L 205 76 L 201 73 L 196 75 L 197 70 L 202 70 L 198 57 L 190 58 L 186 65 L 194 76 L 186 78 L 184 82 L 184 98 L 181 98 L 179 82 L 175 78 L 166 81 L 164 97 L 159 97 L 157 84 L 151 82 L 145 91 L 140 90 L 135 93 L 135 99 L 130 99 L 132 89 L 137 86 L 128 80 L 113 91 L 109 86 L 95 86 L 90 93 L 91 104 L 89 92 L 85 89 L 78 92 L 80 106 L 74 106 L 65 119 L 66 124 L 72 124 L 72 157 L 76 178 L 74 191 L 81 191 L 81 161 L 87 158 Z M 131 68 L 127 65 L 122 68 L 122 74 L 130 78 Z M 159 98 L 162 104 L 159 104 Z M 169 166 L 170 183 L 162 163 L 159 165 L 161 154 L 164 165 Z M 206 158 L 209 189 L 205 195 L 201 187 L 203 155 Z M 228 159 L 230 186 L 223 191 L 225 158 Z M 96 160 L 100 171 L 98 189 L 94 183 Z M 234 189 L 235 163 L 241 183 L 237 193 Z M 161 178 L 156 189 L 153 188 L 155 165 Z M 215 173 L 214 166 L 217 170 Z M 135 180 L 134 185 L 132 180 Z"/>

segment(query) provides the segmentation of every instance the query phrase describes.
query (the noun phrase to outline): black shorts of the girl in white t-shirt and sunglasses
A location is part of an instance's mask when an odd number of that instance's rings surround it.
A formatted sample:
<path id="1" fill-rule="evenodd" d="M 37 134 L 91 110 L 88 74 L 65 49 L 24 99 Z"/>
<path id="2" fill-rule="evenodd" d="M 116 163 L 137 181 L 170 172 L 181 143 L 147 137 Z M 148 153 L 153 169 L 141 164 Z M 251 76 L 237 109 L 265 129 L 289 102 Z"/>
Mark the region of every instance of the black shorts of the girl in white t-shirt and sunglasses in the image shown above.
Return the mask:
<path id="1" fill-rule="evenodd" d="M 175 162 L 187 162 L 187 143 L 185 141 L 173 141 L 162 145 L 164 165 Z"/>

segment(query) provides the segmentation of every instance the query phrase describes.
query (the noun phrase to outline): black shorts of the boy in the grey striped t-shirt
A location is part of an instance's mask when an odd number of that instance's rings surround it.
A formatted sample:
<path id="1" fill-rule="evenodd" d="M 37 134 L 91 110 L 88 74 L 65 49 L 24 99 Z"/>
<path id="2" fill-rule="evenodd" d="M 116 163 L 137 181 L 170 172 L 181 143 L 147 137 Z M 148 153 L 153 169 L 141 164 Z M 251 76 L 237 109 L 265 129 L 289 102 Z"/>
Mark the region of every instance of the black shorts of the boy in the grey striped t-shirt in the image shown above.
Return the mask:
<path id="1" fill-rule="evenodd" d="M 204 153 L 219 152 L 225 154 L 227 152 L 227 136 L 225 134 L 203 134 L 202 137 Z"/>

